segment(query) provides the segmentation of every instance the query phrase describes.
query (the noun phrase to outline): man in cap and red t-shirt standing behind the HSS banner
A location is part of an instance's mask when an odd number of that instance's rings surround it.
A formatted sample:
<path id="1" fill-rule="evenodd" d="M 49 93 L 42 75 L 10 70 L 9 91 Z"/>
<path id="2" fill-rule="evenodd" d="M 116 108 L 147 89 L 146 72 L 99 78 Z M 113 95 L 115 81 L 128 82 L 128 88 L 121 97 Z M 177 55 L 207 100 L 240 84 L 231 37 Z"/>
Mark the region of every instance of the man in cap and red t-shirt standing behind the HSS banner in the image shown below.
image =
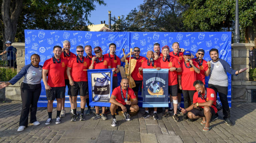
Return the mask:
<path id="1" fill-rule="evenodd" d="M 102 55 L 102 50 L 101 47 L 95 47 L 94 48 L 94 53 L 95 53 L 95 57 L 92 57 L 91 59 L 91 65 L 89 67 L 89 69 L 111 69 L 111 61 L 110 58 L 108 58 L 108 56 L 106 55 Z M 115 70 L 113 69 L 112 72 L 114 72 Z M 91 120 L 95 120 L 97 118 L 100 118 L 99 115 L 99 107 L 98 106 L 94 106 L 95 109 L 95 115 L 91 118 Z M 102 107 L 102 114 L 101 114 L 101 118 L 103 120 L 107 120 L 107 116 L 105 114 L 105 110 L 106 107 Z"/>

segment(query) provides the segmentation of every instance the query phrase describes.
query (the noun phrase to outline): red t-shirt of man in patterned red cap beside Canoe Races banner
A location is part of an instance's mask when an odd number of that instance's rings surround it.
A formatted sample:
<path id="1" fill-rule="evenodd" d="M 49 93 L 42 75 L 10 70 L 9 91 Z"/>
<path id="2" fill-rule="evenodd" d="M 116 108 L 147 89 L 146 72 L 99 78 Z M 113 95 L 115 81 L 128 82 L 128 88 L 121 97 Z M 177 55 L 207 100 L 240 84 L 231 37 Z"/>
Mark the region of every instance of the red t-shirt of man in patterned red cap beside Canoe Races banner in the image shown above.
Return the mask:
<path id="1" fill-rule="evenodd" d="M 161 64 L 161 69 L 169 69 L 171 67 L 176 67 L 176 68 L 181 67 L 178 59 L 174 58 L 172 56 L 170 56 L 170 62 L 168 62 L 167 60 L 164 62 L 163 58 L 161 57 L 160 64 Z M 169 86 L 178 84 L 178 81 L 177 81 L 178 72 L 177 71 L 169 71 L 168 78 L 169 78 L 168 79 Z"/>

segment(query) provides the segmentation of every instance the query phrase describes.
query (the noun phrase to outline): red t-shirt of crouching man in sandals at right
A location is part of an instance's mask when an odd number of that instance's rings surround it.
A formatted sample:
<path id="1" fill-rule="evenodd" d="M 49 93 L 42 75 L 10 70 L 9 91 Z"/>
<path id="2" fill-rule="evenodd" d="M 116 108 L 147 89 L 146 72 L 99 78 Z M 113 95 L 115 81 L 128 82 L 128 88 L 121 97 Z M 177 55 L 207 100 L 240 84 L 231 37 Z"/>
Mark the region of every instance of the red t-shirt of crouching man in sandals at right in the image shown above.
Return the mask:
<path id="1" fill-rule="evenodd" d="M 206 96 L 206 101 L 212 100 L 213 101 L 213 105 L 216 106 L 216 94 L 215 91 L 213 89 L 210 88 L 206 88 L 207 89 L 207 96 Z M 202 96 L 205 96 L 205 94 L 202 94 Z M 198 93 L 195 92 L 194 96 L 193 96 L 193 103 L 204 103 L 205 100 L 201 99 L 200 97 L 198 97 Z M 215 113 L 217 113 L 218 109 L 215 106 L 211 106 Z M 199 106 L 201 108 L 204 108 L 203 106 Z"/>

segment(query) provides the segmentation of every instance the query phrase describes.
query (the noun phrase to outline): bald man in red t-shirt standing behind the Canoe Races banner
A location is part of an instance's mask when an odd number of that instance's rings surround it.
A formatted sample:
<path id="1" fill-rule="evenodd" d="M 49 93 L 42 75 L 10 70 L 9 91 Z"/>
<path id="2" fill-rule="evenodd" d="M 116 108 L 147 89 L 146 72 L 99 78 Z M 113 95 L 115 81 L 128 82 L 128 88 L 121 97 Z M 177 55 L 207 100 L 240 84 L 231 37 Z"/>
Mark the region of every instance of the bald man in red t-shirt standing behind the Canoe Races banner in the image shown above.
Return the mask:
<path id="1" fill-rule="evenodd" d="M 161 65 L 158 61 L 154 60 L 154 52 L 153 51 L 148 51 L 147 52 L 147 58 L 148 60 L 142 62 L 141 67 L 139 67 L 139 72 L 140 75 L 143 77 L 143 69 L 157 69 L 160 70 Z M 142 91 L 143 95 L 143 91 Z M 145 107 L 145 114 L 142 116 L 143 118 L 149 117 L 149 108 Z M 158 115 L 157 115 L 157 107 L 154 107 L 154 119 L 158 120 Z"/>

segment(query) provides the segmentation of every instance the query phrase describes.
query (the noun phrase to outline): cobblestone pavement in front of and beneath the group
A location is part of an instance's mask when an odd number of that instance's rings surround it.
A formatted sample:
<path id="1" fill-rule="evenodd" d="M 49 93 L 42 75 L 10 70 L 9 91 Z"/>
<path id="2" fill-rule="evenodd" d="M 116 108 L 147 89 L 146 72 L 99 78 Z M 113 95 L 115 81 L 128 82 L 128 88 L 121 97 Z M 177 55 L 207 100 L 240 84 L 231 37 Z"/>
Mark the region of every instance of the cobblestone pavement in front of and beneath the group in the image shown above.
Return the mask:
<path id="1" fill-rule="evenodd" d="M 37 109 L 38 126 L 29 124 L 22 132 L 17 132 L 21 102 L 0 103 L 0 142 L 88 142 L 88 143 L 166 143 L 166 142 L 228 142 L 248 143 L 256 142 L 256 104 L 232 103 L 231 119 L 234 126 L 228 126 L 219 113 L 219 119 L 210 123 L 212 129 L 209 132 L 202 131 L 202 120 L 189 122 L 182 120 L 175 122 L 170 116 L 154 120 L 153 112 L 150 118 L 141 116 L 145 110 L 141 108 L 138 115 L 131 117 L 131 121 L 125 121 L 123 116 L 116 115 L 117 126 L 111 126 L 111 114 L 108 120 L 90 120 L 91 115 L 85 116 L 85 121 L 71 122 L 71 114 L 66 108 L 66 116 L 61 118 L 60 124 L 55 124 L 56 108 L 53 109 L 53 122 L 45 125 L 48 117 L 46 108 Z M 77 108 L 80 113 L 80 108 Z M 87 108 L 85 109 L 85 111 Z M 171 113 L 170 115 L 173 115 Z M 181 114 L 179 114 L 181 116 Z M 78 118 L 79 119 L 79 118 Z"/>

